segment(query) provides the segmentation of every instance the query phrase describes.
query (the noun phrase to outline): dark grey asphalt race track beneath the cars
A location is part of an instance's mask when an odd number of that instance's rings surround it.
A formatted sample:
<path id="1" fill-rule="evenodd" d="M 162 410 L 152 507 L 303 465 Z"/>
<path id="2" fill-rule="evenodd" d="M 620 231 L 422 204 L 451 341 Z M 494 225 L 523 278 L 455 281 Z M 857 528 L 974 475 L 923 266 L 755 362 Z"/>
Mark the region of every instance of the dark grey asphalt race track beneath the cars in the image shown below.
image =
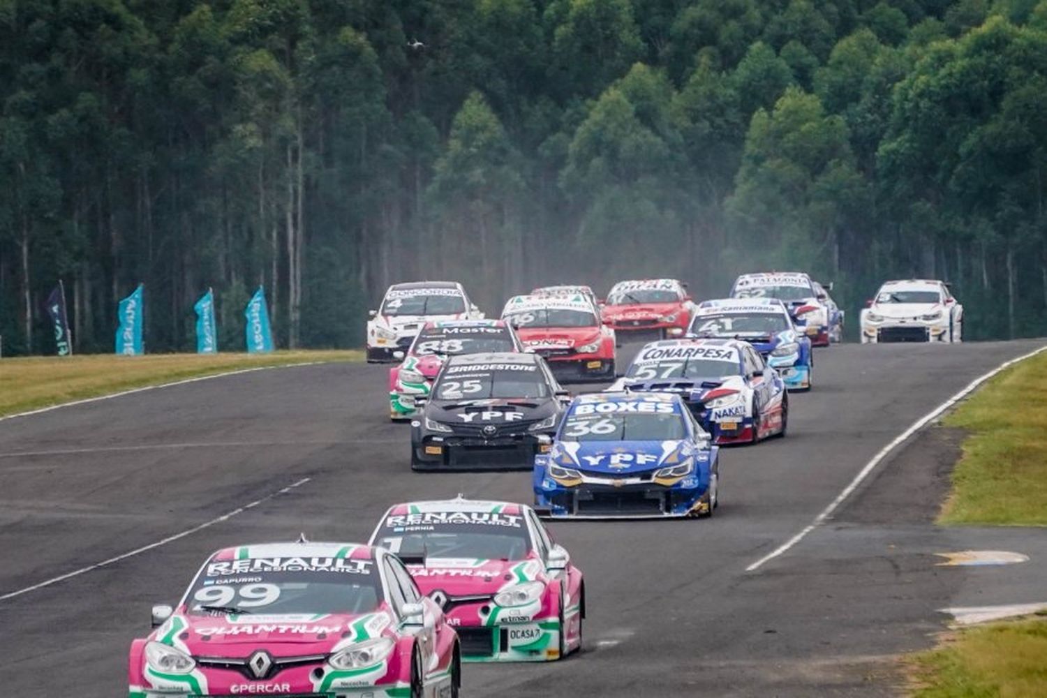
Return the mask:
<path id="1" fill-rule="evenodd" d="M 815 390 L 790 397 L 788 436 L 721 452 L 714 518 L 554 523 L 586 576 L 585 652 L 468 665 L 464 691 L 889 695 L 885 657 L 927 645 L 961 572 L 932 575 L 926 556 L 890 553 L 888 530 L 855 537 L 846 555 L 819 530 L 758 571 L 745 566 L 912 422 L 1040 344 L 818 351 Z M 386 370 L 258 371 L 0 421 L 0 598 L 213 522 L 0 600 L 0 695 L 126 696 L 128 646 L 149 632 L 151 604 L 175 602 L 215 548 L 300 532 L 362 541 L 408 499 L 531 501 L 525 472 L 411 473 L 407 427 L 386 420 Z M 884 485 L 871 478 L 854 500 Z M 904 518 L 892 493 L 875 494 L 888 520 Z"/>

